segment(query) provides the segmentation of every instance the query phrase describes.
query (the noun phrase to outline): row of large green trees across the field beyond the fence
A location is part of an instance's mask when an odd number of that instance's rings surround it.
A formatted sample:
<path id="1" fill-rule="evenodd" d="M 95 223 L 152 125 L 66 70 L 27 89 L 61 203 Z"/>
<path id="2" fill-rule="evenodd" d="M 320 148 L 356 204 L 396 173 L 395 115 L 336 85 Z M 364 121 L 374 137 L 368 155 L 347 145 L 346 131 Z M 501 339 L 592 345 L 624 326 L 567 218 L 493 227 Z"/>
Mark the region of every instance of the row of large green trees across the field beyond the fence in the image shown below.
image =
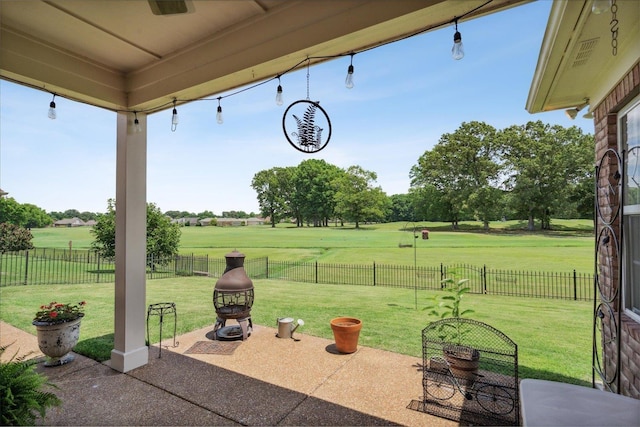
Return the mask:
<path id="1" fill-rule="evenodd" d="M 555 218 L 593 217 L 593 135 L 576 126 L 540 121 L 498 130 L 462 123 L 418 158 L 407 194 L 387 196 L 376 173 L 341 169 L 324 160 L 274 167 L 251 182 L 261 213 L 271 225 L 331 221 L 445 221 L 522 219 L 534 229 Z"/>

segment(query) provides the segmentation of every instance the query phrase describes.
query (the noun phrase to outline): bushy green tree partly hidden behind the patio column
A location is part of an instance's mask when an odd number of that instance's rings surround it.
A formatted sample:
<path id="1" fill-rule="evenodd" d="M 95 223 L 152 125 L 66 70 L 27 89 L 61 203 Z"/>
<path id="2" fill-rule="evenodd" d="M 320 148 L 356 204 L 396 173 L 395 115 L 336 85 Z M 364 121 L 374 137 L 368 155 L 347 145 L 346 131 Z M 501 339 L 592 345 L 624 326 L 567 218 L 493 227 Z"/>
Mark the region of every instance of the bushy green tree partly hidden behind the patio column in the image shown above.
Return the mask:
<path id="1" fill-rule="evenodd" d="M 162 263 L 178 253 L 180 245 L 180 227 L 172 224 L 171 219 L 153 203 L 147 203 L 147 256 L 154 263 Z M 116 255 L 116 202 L 109 199 L 107 212 L 98 216 L 96 225 L 91 229 L 95 240 L 91 247 L 101 256 L 113 258 Z"/>

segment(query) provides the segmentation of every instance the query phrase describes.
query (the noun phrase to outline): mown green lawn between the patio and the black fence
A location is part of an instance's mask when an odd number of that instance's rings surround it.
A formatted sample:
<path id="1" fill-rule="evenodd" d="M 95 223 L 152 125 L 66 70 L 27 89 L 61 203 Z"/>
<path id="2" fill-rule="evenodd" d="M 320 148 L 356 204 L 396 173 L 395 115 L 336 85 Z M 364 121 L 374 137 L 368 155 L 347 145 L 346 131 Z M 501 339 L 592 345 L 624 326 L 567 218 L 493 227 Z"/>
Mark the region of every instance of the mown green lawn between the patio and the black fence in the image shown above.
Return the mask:
<path id="1" fill-rule="evenodd" d="M 147 302 L 173 301 L 178 334 L 215 323 L 215 279 L 173 278 L 147 281 Z M 317 285 L 255 280 L 252 319 L 276 327 L 278 317 L 302 318 L 300 332 L 332 339 L 329 321 L 338 316 L 362 319 L 360 344 L 416 357 L 422 355 L 421 331 L 430 321 L 425 307 L 433 292 L 382 287 Z M 76 351 L 98 360 L 113 348 L 113 284 L 20 286 L 2 288 L 0 319 L 35 334 L 31 325 L 41 304 L 87 301 Z M 417 303 L 417 309 L 416 309 Z M 591 376 L 592 303 L 466 295 L 463 302 L 518 344 L 520 376 L 587 384 Z M 169 325 L 169 326 L 167 326 Z M 570 326 L 568 326 L 570 325 Z M 165 323 L 165 332 L 170 324 Z M 154 333 L 156 335 L 154 335 Z M 157 341 L 157 325 L 152 342 Z"/>

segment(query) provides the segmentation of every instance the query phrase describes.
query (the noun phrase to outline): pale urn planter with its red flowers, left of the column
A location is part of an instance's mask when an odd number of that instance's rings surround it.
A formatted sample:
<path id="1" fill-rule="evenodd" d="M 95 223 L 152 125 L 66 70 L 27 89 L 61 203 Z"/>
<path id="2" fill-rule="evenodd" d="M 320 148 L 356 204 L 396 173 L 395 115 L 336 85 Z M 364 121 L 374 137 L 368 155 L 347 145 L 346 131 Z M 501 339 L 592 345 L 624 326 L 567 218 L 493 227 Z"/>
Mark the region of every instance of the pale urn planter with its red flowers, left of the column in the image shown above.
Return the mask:
<path id="1" fill-rule="evenodd" d="M 38 332 L 38 347 L 48 359 L 45 366 L 59 366 L 74 359 L 70 354 L 80 338 L 80 321 L 85 302 L 62 304 L 51 302 L 40 306 L 32 324 Z"/>

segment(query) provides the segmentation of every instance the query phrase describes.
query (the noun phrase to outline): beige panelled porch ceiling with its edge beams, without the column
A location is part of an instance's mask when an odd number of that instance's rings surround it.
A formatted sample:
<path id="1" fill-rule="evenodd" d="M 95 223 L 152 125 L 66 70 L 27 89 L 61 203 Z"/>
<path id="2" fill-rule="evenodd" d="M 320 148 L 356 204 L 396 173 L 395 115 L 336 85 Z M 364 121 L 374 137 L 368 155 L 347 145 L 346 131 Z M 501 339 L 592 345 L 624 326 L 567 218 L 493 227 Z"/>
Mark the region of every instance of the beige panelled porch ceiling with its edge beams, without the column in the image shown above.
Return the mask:
<path id="1" fill-rule="evenodd" d="M 493 0 L 464 20 L 527 1 Z M 485 3 L 186 0 L 186 13 L 157 15 L 155 0 L 1 1 L 0 77 L 111 110 L 155 112 L 174 98 L 272 78 L 306 57 L 446 24 Z"/>

